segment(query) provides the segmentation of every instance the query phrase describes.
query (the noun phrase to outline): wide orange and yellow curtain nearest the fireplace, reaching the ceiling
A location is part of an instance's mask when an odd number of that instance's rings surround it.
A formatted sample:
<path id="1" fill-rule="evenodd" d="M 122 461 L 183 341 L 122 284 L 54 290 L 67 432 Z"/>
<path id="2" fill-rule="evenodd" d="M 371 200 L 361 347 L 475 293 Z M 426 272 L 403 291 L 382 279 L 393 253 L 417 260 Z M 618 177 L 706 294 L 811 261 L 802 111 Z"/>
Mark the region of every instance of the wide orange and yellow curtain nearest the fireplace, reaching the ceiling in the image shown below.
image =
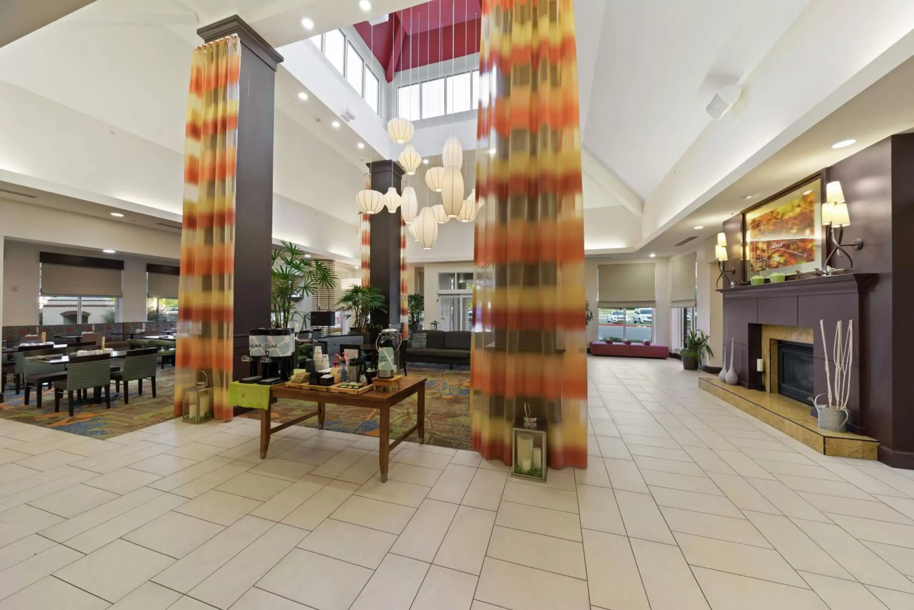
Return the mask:
<path id="1" fill-rule="evenodd" d="M 473 449 L 511 464 L 525 404 L 548 465 L 587 467 L 578 63 L 572 0 L 484 0 Z"/>

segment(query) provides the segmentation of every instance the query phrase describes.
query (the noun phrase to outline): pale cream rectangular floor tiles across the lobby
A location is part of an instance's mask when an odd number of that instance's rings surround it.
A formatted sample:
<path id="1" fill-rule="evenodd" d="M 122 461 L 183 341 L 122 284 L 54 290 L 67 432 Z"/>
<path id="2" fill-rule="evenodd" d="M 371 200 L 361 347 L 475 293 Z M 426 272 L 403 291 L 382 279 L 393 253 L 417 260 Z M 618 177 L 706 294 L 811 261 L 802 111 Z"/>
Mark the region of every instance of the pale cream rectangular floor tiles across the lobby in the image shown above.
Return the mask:
<path id="1" fill-rule="evenodd" d="M 914 472 L 817 455 L 676 360 L 591 358 L 590 464 L 258 422 L 0 420 L 0 610 L 911 610 Z"/>

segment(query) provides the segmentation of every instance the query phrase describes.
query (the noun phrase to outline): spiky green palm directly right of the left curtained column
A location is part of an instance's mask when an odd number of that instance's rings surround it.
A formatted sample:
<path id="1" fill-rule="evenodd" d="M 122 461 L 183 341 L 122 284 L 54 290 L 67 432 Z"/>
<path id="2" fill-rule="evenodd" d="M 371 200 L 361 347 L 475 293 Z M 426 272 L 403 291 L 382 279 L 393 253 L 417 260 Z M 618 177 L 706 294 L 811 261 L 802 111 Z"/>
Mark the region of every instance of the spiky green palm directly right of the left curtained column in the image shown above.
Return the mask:
<path id="1" fill-rule="evenodd" d="M 291 328 L 297 320 L 302 327 L 310 315 L 295 305 L 319 288 L 333 288 L 335 273 L 320 261 L 305 257 L 305 251 L 294 243 L 282 241 L 271 256 L 270 316 L 274 328 Z"/>

